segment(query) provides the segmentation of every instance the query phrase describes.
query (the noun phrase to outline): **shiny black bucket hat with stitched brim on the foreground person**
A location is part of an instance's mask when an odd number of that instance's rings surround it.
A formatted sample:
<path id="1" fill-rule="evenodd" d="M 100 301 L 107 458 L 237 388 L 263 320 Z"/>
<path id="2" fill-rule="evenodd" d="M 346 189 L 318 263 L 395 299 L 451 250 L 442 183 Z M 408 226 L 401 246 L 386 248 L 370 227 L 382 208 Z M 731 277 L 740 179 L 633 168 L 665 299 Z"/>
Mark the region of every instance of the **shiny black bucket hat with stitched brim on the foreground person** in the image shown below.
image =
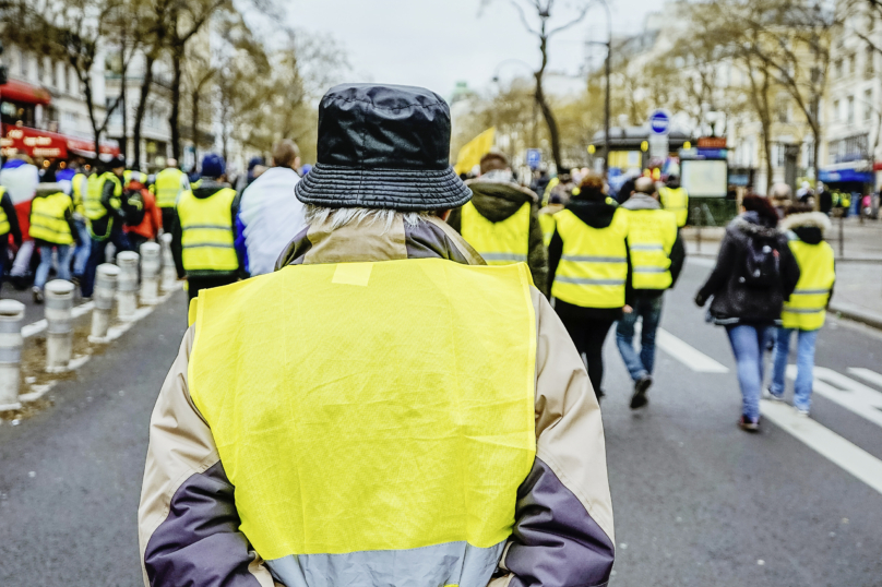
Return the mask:
<path id="1" fill-rule="evenodd" d="M 318 151 L 295 188 L 306 204 L 419 212 L 472 199 L 450 165 L 450 108 L 421 87 L 331 88 L 319 106 Z"/>

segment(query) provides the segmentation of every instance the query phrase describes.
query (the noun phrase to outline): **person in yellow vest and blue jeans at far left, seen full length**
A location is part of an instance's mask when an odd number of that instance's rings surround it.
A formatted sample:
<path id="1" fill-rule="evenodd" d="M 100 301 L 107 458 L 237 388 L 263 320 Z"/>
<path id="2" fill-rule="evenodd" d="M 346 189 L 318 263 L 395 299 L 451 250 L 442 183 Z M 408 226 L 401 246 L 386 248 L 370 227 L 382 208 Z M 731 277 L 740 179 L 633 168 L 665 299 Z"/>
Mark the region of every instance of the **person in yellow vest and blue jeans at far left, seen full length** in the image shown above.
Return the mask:
<path id="1" fill-rule="evenodd" d="M 52 252 L 58 253 L 56 273 L 59 279 L 71 279 L 72 244 L 80 242 L 73 221 L 73 200 L 61 191 L 46 191 L 50 184 L 40 184 L 31 202 L 31 238 L 39 250 L 39 266 L 34 275 L 32 292 L 36 303 L 43 303 L 43 288 L 52 268 Z M 60 184 L 51 184 L 60 188 Z"/>

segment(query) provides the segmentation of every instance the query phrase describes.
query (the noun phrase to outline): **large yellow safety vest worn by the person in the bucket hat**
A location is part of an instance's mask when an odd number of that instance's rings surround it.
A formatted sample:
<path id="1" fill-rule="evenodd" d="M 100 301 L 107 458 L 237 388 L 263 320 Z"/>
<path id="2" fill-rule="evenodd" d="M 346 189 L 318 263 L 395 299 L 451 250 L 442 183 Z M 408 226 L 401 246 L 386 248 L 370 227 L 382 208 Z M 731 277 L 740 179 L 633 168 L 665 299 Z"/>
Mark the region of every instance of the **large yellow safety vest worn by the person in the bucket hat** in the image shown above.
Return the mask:
<path id="1" fill-rule="evenodd" d="M 422 259 L 200 291 L 189 392 L 282 582 L 489 582 L 535 462 L 531 284 Z"/>

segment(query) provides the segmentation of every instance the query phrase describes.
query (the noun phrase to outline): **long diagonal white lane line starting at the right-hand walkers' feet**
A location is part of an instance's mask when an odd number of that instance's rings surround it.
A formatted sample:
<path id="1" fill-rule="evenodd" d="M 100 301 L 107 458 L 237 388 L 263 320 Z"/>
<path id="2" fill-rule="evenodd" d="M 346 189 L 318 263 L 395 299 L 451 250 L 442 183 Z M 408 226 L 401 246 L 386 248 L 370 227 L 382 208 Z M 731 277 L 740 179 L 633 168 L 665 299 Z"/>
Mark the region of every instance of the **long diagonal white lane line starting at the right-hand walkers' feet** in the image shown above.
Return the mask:
<path id="1" fill-rule="evenodd" d="M 762 415 L 833 464 L 882 493 L 882 460 L 779 402 L 762 400 Z"/>

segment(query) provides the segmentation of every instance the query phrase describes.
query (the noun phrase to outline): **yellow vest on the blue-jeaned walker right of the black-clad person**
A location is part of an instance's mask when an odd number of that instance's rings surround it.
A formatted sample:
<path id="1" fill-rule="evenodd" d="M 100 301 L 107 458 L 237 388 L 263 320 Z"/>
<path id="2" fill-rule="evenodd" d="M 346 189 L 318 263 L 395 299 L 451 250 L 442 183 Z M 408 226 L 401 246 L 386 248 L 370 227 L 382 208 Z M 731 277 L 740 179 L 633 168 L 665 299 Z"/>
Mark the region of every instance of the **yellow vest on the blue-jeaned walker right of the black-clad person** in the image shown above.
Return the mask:
<path id="1" fill-rule="evenodd" d="M 668 289 L 677 217 L 665 209 L 627 209 L 631 283 L 634 289 Z"/>

